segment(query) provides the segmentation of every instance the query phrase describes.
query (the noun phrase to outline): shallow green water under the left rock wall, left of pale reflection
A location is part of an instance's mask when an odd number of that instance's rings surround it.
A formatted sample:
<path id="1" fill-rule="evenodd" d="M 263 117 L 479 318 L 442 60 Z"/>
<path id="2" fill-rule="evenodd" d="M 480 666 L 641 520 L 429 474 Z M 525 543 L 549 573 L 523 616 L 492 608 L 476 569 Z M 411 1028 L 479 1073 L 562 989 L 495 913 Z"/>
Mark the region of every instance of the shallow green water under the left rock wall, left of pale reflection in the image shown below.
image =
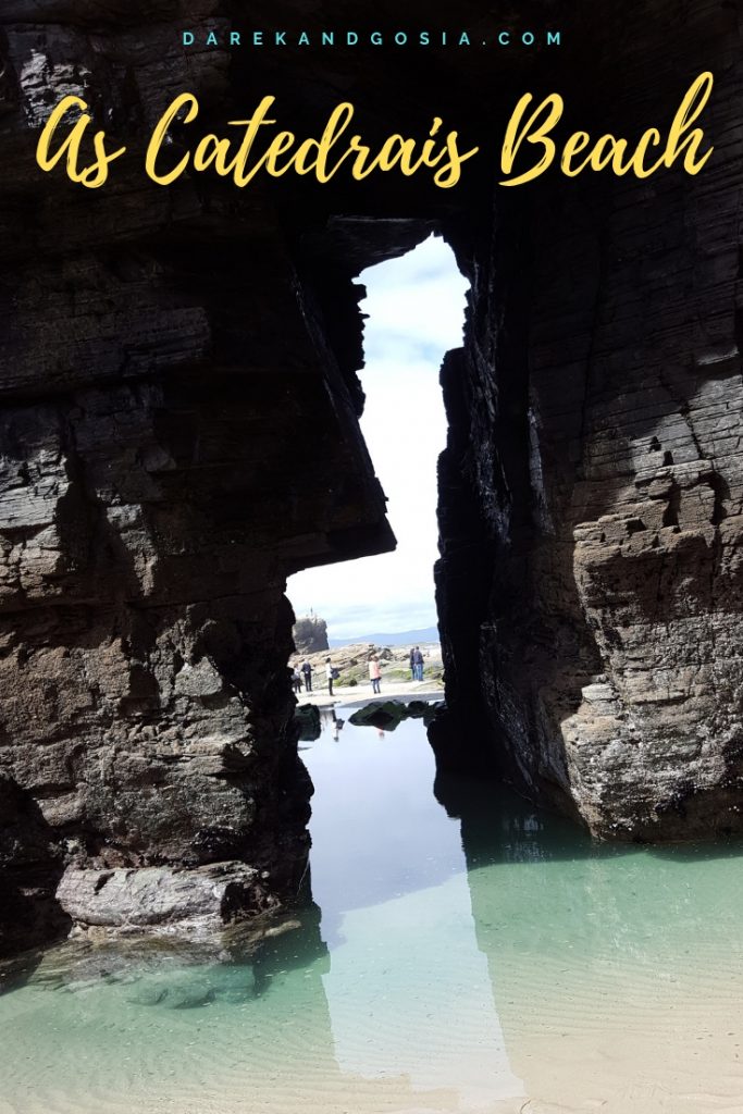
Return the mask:
<path id="1" fill-rule="evenodd" d="M 319 928 L 310 906 L 227 932 L 221 950 L 151 938 L 49 949 L 30 986 L 19 980 L 18 995 L 0 995 L 3 1100 L 29 1114 L 49 1094 L 55 1108 L 81 1114 L 123 1102 L 197 1114 L 217 1094 L 225 1112 L 246 1102 L 265 1114 L 454 1110 L 452 1091 L 382 1073 L 371 1032 L 368 1069 L 365 1061 L 359 1072 L 339 1064 Z M 39 994 L 49 996 L 41 1008 Z M 27 1007 L 32 1017 L 22 1039 L 9 1024 L 16 1001 L 21 1025 Z"/>

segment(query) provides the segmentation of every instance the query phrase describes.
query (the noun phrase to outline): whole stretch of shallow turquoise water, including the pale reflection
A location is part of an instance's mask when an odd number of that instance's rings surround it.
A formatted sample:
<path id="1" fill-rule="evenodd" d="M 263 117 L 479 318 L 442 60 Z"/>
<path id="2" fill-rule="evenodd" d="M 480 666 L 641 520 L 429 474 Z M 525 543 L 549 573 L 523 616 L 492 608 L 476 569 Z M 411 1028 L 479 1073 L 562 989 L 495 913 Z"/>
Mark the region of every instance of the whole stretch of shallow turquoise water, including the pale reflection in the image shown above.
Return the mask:
<path id="1" fill-rule="evenodd" d="M 418 722 L 302 745 L 315 907 L 7 969 L 0 1114 L 742 1114 L 740 844 L 595 846 L 467 782 L 448 814 Z"/>

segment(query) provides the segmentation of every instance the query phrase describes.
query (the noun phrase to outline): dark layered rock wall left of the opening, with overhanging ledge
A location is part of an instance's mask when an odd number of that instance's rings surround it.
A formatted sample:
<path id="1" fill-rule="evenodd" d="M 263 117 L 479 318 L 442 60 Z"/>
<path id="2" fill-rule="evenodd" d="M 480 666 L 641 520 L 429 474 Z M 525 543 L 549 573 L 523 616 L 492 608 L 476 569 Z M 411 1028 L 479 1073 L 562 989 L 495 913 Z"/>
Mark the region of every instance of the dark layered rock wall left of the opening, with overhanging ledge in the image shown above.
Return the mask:
<path id="1" fill-rule="evenodd" d="M 85 924 L 113 892 L 79 885 L 88 871 L 236 859 L 260 910 L 296 891 L 309 848 L 286 576 L 393 544 L 358 380 L 258 190 L 149 188 L 133 158 L 95 195 L 33 165 L 33 126 L 65 91 L 133 143 L 174 85 L 226 100 L 225 56 L 194 71 L 157 22 L 179 6 L 100 22 L 97 4 L 11 7 L 0 775 L 28 820 L 13 805 L 0 822 L 10 916 L 52 898 L 65 867 L 62 906 Z"/>

